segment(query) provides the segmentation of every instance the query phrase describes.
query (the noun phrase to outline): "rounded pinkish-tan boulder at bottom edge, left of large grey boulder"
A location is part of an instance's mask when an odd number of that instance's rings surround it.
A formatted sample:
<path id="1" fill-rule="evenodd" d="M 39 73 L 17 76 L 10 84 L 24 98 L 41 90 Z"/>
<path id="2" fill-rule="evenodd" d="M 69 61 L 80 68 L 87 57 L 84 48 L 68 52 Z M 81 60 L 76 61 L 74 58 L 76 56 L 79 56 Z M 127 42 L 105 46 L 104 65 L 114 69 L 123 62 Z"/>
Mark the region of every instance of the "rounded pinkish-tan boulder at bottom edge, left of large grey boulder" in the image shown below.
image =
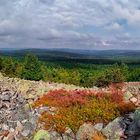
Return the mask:
<path id="1" fill-rule="evenodd" d="M 78 132 L 76 133 L 77 140 L 93 140 L 94 135 L 96 135 L 98 131 L 94 128 L 92 124 L 84 123 L 80 126 Z"/>

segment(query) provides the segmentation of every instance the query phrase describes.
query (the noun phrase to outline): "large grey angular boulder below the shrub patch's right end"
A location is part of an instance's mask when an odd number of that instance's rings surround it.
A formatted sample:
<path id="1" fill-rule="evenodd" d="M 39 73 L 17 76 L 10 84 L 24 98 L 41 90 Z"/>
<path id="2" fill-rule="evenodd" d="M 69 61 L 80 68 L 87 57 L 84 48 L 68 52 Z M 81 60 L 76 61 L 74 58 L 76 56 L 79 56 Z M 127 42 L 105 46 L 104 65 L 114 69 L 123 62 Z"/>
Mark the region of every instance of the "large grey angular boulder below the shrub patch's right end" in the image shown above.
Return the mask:
<path id="1" fill-rule="evenodd" d="M 102 133 L 109 140 L 120 140 L 121 136 L 124 135 L 126 125 L 123 124 L 123 118 L 118 117 L 114 121 L 110 122 L 105 128 L 102 129 Z"/>

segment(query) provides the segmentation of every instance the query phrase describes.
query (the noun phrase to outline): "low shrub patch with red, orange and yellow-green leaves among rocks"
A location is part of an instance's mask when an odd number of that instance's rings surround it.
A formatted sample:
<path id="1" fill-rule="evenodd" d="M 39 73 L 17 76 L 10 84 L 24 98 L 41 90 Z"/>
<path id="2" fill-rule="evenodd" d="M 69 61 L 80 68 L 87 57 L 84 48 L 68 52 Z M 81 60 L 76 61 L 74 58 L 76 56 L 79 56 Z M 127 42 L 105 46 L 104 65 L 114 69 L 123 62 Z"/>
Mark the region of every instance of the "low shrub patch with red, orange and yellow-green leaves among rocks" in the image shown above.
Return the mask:
<path id="1" fill-rule="evenodd" d="M 66 127 L 76 132 L 84 122 L 108 123 L 134 109 L 134 106 L 123 101 L 123 92 L 116 87 L 111 87 L 108 93 L 63 89 L 50 91 L 34 103 L 34 107 L 46 105 L 55 107 L 56 112 L 43 112 L 39 122 L 46 129 L 53 128 L 60 133 Z"/>

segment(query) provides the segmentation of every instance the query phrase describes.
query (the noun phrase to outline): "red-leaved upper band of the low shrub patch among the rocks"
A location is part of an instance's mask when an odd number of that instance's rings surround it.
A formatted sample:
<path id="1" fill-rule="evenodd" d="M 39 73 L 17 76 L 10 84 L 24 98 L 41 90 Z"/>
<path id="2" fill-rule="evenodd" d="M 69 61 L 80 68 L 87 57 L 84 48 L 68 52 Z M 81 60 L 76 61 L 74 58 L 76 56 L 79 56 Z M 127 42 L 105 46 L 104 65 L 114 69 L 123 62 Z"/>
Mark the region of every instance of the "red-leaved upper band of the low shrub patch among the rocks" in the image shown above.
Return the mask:
<path id="1" fill-rule="evenodd" d="M 110 87 L 110 93 L 103 91 L 95 92 L 92 90 L 53 90 L 44 95 L 35 102 L 35 106 L 49 105 L 49 106 L 74 106 L 86 104 L 92 98 L 110 98 L 113 102 L 123 101 L 123 92 L 113 86 Z"/>

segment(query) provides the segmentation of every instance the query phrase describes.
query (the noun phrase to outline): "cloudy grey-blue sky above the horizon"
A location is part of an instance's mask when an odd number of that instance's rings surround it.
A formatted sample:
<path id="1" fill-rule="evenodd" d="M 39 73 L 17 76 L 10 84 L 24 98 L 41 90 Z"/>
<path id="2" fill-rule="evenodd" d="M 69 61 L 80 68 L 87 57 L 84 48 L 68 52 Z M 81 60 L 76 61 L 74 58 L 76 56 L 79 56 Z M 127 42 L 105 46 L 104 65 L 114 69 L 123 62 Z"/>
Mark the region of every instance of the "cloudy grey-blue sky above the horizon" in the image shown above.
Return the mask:
<path id="1" fill-rule="evenodd" d="M 0 0 L 0 48 L 140 50 L 140 0 Z"/>

